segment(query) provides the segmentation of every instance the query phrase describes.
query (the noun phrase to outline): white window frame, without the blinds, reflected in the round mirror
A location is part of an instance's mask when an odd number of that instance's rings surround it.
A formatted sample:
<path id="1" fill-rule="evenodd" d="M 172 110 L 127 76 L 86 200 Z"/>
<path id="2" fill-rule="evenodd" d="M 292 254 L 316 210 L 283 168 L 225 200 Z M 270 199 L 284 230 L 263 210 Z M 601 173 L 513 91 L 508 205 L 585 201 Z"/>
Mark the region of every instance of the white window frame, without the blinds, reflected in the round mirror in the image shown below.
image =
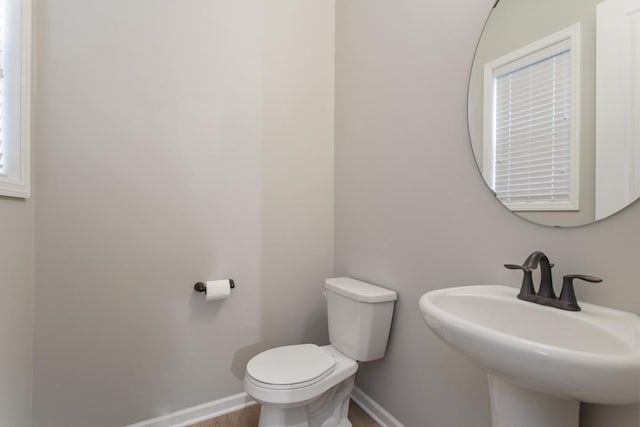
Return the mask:
<path id="1" fill-rule="evenodd" d="M 534 43 L 508 53 L 484 65 L 483 106 L 483 161 L 482 175 L 492 187 L 495 153 L 495 83 L 496 78 L 510 67 L 517 69 L 529 63 L 553 56 L 563 50 L 571 51 L 571 150 L 569 200 L 508 202 L 503 204 L 512 211 L 578 211 L 580 210 L 580 67 L 581 67 L 580 23 L 574 24 Z M 492 188 L 493 190 L 493 188 Z"/>

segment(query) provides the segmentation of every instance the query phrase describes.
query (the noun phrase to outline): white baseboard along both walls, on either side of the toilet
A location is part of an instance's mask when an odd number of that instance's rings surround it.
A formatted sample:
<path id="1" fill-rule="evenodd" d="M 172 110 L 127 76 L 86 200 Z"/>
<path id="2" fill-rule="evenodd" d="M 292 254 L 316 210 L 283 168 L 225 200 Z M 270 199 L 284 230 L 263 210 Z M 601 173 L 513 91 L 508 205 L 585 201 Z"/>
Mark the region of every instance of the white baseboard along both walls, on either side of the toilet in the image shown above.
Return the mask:
<path id="1" fill-rule="evenodd" d="M 380 427 L 404 427 L 400 421 L 358 387 L 353 389 L 351 398 L 380 424 Z M 247 393 L 238 393 L 125 427 L 187 427 L 252 405 L 256 405 L 256 402 Z"/>

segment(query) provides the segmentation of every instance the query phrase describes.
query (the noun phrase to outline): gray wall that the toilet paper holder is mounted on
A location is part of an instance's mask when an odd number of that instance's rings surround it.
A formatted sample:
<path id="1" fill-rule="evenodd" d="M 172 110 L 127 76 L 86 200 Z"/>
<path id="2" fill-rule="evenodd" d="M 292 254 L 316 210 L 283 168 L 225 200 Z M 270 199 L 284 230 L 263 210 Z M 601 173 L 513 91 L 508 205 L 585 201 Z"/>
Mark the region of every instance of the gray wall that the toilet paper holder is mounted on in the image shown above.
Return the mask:
<path id="1" fill-rule="evenodd" d="M 268 6 L 267 6 L 268 5 Z M 242 391 L 324 343 L 334 3 L 38 3 L 35 425 Z M 192 291 L 231 277 L 222 302 Z"/>

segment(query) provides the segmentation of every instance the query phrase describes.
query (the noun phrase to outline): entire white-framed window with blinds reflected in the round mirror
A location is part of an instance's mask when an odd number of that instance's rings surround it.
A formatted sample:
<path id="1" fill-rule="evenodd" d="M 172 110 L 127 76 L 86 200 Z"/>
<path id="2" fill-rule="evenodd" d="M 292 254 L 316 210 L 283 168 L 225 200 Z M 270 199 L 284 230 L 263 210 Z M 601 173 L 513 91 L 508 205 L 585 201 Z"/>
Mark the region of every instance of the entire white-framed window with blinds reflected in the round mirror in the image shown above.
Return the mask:
<path id="1" fill-rule="evenodd" d="M 580 24 L 484 65 L 482 174 L 513 211 L 579 210 Z"/>

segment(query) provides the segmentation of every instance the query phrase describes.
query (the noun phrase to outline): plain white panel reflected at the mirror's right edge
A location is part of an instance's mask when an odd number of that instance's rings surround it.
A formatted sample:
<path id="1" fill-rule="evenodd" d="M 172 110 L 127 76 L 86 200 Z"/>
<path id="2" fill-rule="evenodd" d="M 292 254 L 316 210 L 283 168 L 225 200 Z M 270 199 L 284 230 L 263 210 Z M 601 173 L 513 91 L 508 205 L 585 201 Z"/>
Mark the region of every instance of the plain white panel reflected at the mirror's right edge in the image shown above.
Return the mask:
<path id="1" fill-rule="evenodd" d="M 640 4 L 597 7 L 596 220 L 640 195 Z"/>

